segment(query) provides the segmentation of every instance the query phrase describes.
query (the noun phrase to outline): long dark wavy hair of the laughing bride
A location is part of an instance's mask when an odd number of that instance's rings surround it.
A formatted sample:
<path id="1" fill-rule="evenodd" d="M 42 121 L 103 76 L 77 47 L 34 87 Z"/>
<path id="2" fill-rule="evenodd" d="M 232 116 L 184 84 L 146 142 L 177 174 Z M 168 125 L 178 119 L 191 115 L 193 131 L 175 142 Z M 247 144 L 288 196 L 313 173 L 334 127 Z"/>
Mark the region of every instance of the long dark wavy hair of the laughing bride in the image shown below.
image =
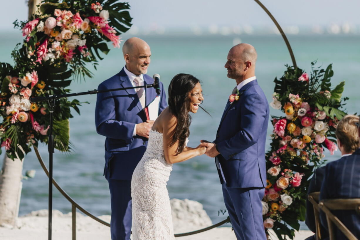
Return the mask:
<path id="1" fill-rule="evenodd" d="M 172 135 L 170 146 L 179 142 L 177 153 L 182 152 L 186 145 L 186 138 L 189 137 L 189 126 L 191 123 L 189 93 L 199 83 L 199 79 L 190 74 L 175 75 L 169 85 L 169 110 L 176 119 L 176 127 Z"/>

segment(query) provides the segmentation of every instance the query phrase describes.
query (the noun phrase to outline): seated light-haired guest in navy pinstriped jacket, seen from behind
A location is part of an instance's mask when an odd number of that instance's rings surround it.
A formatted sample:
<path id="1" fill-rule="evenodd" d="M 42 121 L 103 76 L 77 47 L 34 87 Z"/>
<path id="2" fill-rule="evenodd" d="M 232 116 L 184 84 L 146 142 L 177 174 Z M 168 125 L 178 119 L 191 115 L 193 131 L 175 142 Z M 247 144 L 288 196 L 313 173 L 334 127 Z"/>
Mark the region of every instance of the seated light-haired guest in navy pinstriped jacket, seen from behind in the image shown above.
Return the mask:
<path id="1" fill-rule="evenodd" d="M 324 181 L 321 185 L 320 200 L 360 198 L 360 148 L 354 140 L 355 134 L 360 136 L 360 120 L 358 117 L 347 115 L 338 124 L 336 136 L 339 149 L 351 155 L 328 163 L 325 166 Z M 357 141 L 359 144 L 359 141 Z M 355 210 L 333 211 L 334 215 L 357 237 L 360 236 L 360 215 Z M 320 211 L 321 224 L 328 229 L 324 212 Z M 335 229 L 336 239 L 347 237 Z"/>

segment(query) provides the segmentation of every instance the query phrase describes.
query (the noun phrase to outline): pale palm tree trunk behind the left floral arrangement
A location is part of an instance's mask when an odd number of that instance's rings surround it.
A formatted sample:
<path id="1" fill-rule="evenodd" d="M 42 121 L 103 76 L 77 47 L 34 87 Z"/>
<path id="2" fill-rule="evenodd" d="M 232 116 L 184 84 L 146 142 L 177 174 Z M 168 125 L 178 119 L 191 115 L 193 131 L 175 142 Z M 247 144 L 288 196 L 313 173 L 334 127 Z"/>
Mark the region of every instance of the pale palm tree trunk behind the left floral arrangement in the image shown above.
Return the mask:
<path id="1" fill-rule="evenodd" d="M 28 18 L 37 10 L 36 5 L 41 0 L 29 0 Z M 22 168 L 24 159 L 4 157 L 3 168 L 0 171 L 0 225 L 15 225 L 19 214 L 22 189 Z"/>

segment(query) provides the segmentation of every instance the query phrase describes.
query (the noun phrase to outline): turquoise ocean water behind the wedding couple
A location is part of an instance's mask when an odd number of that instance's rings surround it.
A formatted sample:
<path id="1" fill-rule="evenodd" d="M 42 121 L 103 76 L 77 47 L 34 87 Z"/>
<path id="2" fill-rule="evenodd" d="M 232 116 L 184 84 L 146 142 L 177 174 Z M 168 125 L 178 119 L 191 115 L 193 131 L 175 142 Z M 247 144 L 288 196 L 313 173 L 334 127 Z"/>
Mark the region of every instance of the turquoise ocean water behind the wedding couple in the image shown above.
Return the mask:
<path id="1" fill-rule="evenodd" d="M 123 39 L 131 37 L 124 34 Z M 158 73 L 167 89 L 172 77 L 178 73 L 189 73 L 202 81 L 204 93 L 203 107 L 211 114 L 202 110 L 193 114 L 190 126 L 189 146 L 195 147 L 201 139 L 215 139 L 217 126 L 235 81 L 226 77 L 226 55 L 233 46 L 235 36 L 141 36 L 151 47 L 152 56 L 149 75 Z M 236 37 L 238 38 L 238 37 Z M 281 36 L 249 36 L 241 35 L 241 41 L 255 46 L 258 53 L 256 76 L 269 102 L 272 101 L 276 76 L 282 76 L 285 64 L 292 65 L 288 50 Z M 349 97 L 347 112 L 359 112 L 359 80 L 360 80 L 360 45 L 359 36 L 288 36 L 297 65 L 310 72 L 310 63 L 318 61 L 318 66 L 326 67 L 333 63 L 335 86 L 345 81 L 343 96 Z M 0 34 L 0 61 L 13 63 L 10 53 L 15 44 L 22 40 L 20 32 Z M 121 70 L 125 62 L 121 49 L 111 49 L 104 60 L 99 62 L 98 70 L 93 69 L 94 77 L 85 81 L 74 80 L 72 92 L 83 92 L 96 89 L 103 80 Z M 91 66 L 90 66 L 90 69 Z M 75 111 L 70 120 L 71 142 L 75 146 L 73 152 L 64 154 L 55 151 L 54 178 L 59 185 L 81 206 L 95 215 L 110 214 L 110 194 L 108 183 L 103 177 L 104 141 L 105 137 L 95 131 L 94 109 L 95 95 L 77 97 L 80 101 L 89 101 L 80 108 L 81 115 Z M 275 116 L 283 115 L 279 110 L 271 109 Z M 56 113 L 55 113 L 56 114 Z M 268 136 L 272 132 L 269 123 Z M 267 146 L 270 136 L 267 139 Z M 46 146 L 39 145 L 41 156 L 48 163 Z M 2 164 L 3 155 L 0 156 Z M 330 156 L 325 152 L 326 159 L 338 159 L 339 151 Z M 42 171 L 33 152 L 24 160 L 24 172 L 35 169 L 35 178 L 23 181 L 23 190 L 19 215 L 32 210 L 48 208 L 48 179 Z M 173 166 L 168 182 L 170 198 L 196 200 L 203 204 L 213 223 L 224 219 L 219 210 L 225 209 L 221 185 L 214 160 L 203 155 Z M 62 212 L 71 211 L 71 204 L 54 188 L 53 208 Z M 302 229 L 307 229 L 305 224 Z"/>

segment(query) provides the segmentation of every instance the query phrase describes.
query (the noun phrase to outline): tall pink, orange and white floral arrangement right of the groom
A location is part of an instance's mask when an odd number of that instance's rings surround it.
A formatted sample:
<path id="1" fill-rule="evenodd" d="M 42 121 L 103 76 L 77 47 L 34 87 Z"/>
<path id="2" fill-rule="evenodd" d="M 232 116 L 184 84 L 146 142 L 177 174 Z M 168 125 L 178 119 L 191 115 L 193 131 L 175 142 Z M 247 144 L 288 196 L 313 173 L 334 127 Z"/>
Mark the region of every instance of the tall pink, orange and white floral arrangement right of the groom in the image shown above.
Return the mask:
<path id="1" fill-rule="evenodd" d="M 309 76 L 287 66 L 275 78 L 273 102 L 284 117 L 272 116 L 271 149 L 266 153 L 267 186 L 262 200 L 266 232 L 272 228 L 279 239 L 294 237 L 299 221 L 305 221 L 306 194 L 314 168 L 323 164 L 324 147 L 337 150 L 336 125 L 345 112 L 341 98 L 345 82 L 331 88 L 332 65 L 314 67 Z M 268 234 L 268 232 L 267 232 Z M 285 235 L 284 238 L 282 235 Z"/>

